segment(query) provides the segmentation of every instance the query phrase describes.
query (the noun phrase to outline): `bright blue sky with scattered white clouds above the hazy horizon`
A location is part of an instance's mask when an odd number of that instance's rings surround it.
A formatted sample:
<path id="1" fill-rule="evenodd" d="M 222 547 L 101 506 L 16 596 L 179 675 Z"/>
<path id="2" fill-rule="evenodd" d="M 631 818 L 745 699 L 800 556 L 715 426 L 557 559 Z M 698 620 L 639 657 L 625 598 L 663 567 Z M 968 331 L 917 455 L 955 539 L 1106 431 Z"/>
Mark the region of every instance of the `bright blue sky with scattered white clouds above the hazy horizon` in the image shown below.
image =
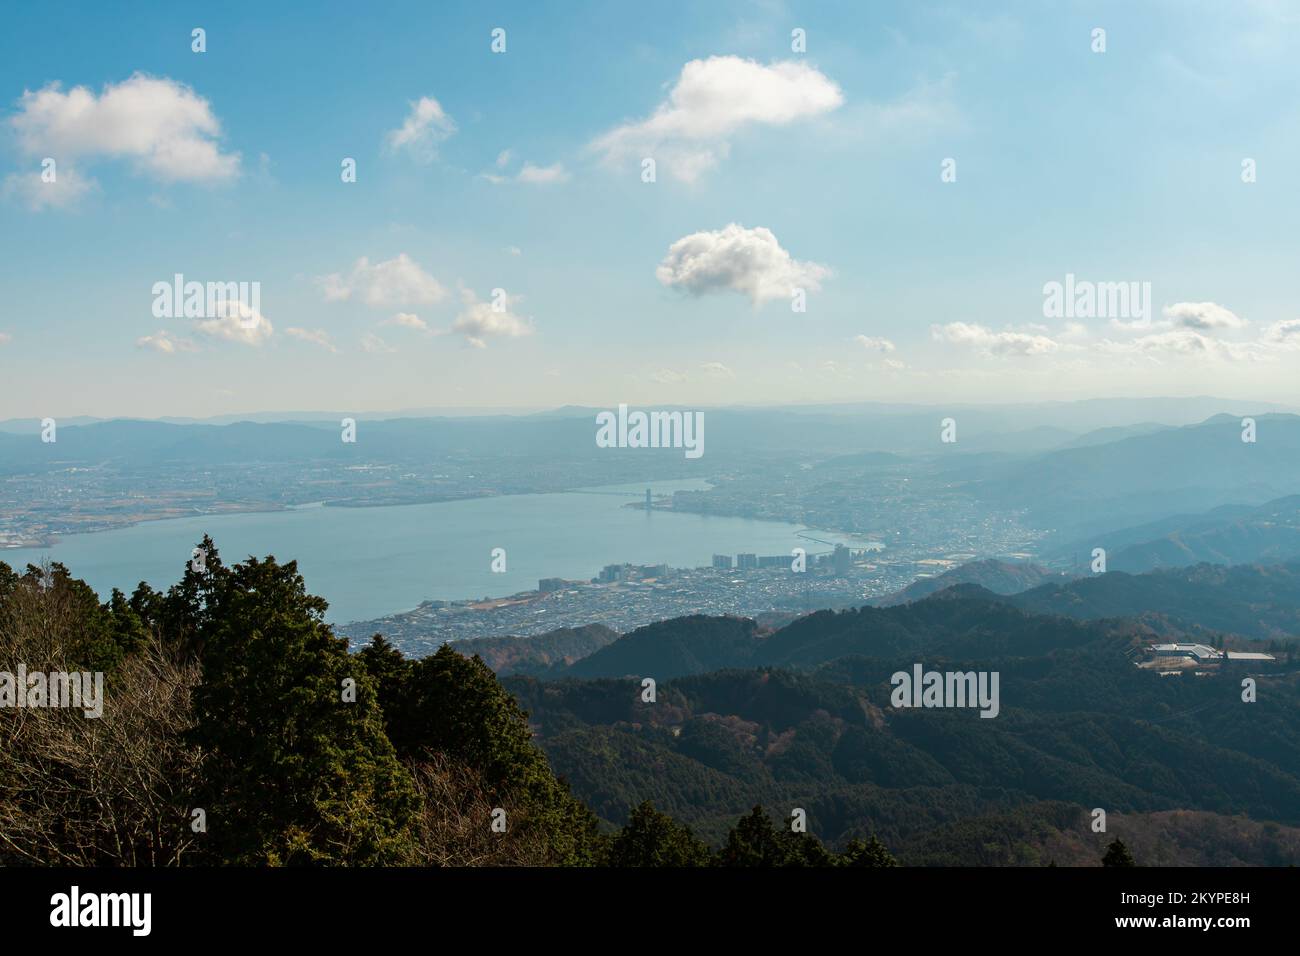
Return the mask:
<path id="1" fill-rule="evenodd" d="M 1296 5 L 6 16 L 0 418 L 1295 393 Z"/>

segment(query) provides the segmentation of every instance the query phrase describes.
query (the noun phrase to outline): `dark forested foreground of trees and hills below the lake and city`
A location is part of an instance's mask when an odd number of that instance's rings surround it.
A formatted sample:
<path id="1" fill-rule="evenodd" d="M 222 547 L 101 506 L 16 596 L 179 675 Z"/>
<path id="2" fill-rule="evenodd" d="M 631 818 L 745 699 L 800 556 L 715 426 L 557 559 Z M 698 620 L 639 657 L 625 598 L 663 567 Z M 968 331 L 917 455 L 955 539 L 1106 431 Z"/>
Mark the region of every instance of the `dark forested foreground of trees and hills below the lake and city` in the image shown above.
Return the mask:
<path id="1" fill-rule="evenodd" d="M 1141 622 L 961 585 L 776 631 L 693 617 L 532 657 L 495 641 L 503 670 L 545 676 L 499 679 L 469 646 L 350 653 L 294 562 L 202 546 L 166 592 L 105 602 L 58 564 L 0 564 L 0 667 L 108 687 L 99 721 L 0 709 L 0 864 L 1093 862 L 1078 814 L 1096 806 L 1147 821 L 1138 844 L 1171 862 L 1295 861 L 1288 659 L 1244 702 L 1238 675 L 1135 667 Z M 599 646 L 563 665 L 580 645 Z M 890 676 L 918 663 L 996 674 L 996 719 L 896 706 Z M 992 852 L 997 826 L 1015 839 Z"/>

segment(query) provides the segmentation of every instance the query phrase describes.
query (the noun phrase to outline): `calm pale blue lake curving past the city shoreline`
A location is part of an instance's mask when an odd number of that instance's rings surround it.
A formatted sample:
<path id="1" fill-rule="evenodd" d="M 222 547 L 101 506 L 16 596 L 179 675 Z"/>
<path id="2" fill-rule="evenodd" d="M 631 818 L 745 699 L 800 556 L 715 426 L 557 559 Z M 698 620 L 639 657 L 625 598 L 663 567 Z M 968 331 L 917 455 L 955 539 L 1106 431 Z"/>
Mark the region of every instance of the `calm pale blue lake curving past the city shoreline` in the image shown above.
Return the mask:
<path id="1" fill-rule="evenodd" d="M 706 488 L 662 481 L 654 493 Z M 604 564 L 708 564 L 714 553 L 789 554 L 828 545 L 801 537 L 802 525 L 744 518 L 646 512 L 624 505 L 645 485 L 564 494 L 519 494 L 391 507 L 300 507 L 268 514 L 177 518 L 130 528 L 69 535 L 53 548 L 0 550 L 0 561 L 60 561 L 100 597 L 136 583 L 166 588 L 204 533 L 226 563 L 250 554 L 296 558 L 307 587 L 330 604 L 334 623 L 404 611 L 429 598 L 502 597 L 540 578 L 589 579 Z M 820 541 L 841 540 L 810 532 Z M 506 572 L 491 571 L 491 550 L 506 549 Z"/>

